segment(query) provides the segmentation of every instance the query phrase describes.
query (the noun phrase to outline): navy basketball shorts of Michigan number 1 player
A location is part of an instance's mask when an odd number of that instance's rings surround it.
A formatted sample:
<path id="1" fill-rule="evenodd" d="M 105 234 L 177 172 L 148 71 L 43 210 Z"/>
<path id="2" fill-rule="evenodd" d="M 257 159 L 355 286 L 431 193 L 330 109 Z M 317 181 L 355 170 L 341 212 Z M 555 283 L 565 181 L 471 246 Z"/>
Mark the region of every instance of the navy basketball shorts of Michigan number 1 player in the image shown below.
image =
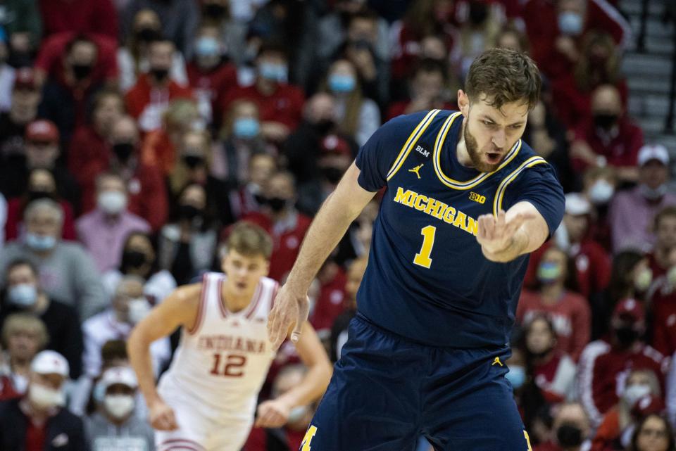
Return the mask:
<path id="1" fill-rule="evenodd" d="M 449 331 L 452 333 L 452 331 Z M 530 451 L 508 347 L 420 345 L 357 315 L 301 451 Z"/>

